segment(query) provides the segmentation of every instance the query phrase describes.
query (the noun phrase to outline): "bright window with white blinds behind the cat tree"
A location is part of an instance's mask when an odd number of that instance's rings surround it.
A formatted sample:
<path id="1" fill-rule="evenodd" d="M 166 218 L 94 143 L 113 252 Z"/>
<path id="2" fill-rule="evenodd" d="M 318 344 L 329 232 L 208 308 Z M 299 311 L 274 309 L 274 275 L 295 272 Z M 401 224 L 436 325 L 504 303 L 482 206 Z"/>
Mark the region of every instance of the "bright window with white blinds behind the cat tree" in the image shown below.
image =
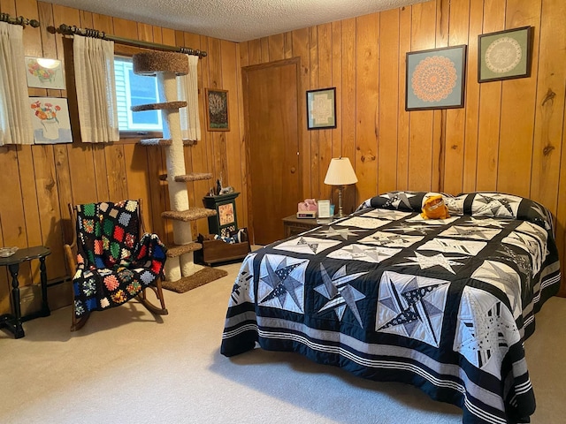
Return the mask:
<path id="1" fill-rule="evenodd" d="M 130 108 L 138 104 L 157 103 L 157 78 L 136 75 L 132 57 L 115 56 L 116 97 L 120 133 L 136 135 L 162 133 L 163 124 L 160 110 L 133 112 Z"/>

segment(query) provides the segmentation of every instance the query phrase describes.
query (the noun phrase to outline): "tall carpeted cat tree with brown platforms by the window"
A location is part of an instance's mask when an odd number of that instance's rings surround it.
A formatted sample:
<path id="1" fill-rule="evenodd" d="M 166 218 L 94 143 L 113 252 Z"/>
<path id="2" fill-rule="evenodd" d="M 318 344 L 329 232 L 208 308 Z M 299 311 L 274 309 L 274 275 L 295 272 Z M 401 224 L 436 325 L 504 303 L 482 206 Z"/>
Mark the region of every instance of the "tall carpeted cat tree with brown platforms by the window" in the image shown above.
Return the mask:
<path id="1" fill-rule="evenodd" d="M 187 102 L 177 100 L 177 75 L 188 73 L 187 57 L 181 53 L 149 51 L 134 55 L 134 73 L 156 76 L 159 98 L 165 102 L 133 106 L 132 110 L 161 110 L 163 139 L 141 140 L 142 145 L 163 146 L 167 166 L 167 185 L 172 210 L 161 216 L 171 219 L 173 224 L 173 246 L 167 246 L 165 281 L 163 287 L 174 292 L 187 292 L 210 281 L 226 276 L 222 269 L 212 269 L 195 264 L 193 252 L 203 248 L 195 243 L 191 234 L 191 222 L 216 215 L 216 210 L 189 208 L 187 183 L 211 179 L 210 173 L 189 173 L 185 170 L 184 146 L 193 146 L 195 140 L 182 140 L 180 130 L 180 108 Z"/>

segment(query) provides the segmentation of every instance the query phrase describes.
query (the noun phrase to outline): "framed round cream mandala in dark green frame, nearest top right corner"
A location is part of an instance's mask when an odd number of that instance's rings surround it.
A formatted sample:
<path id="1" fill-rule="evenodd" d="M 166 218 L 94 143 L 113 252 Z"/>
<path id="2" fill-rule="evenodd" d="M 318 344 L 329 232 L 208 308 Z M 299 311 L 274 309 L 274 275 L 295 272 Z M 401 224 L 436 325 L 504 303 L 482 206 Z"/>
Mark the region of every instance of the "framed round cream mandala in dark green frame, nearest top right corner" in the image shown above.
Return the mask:
<path id="1" fill-rule="evenodd" d="M 478 82 L 531 76 L 532 27 L 478 35 Z"/>

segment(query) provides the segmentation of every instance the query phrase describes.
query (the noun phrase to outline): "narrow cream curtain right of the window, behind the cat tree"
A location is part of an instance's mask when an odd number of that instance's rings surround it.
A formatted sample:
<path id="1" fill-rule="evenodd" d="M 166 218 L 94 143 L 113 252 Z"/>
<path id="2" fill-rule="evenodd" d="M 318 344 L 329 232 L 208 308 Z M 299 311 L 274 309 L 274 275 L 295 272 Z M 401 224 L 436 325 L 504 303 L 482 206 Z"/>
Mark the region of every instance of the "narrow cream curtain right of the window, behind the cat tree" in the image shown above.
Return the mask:
<path id="1" fill-rule="evenodd" d="M 187 55 L 188 73 L 177 77 L 179 100 L 187 102 L 181 108 L 180 130 L 183 140 L 201 140 L 201 120 L 198 116 L 198 56 Z"/>

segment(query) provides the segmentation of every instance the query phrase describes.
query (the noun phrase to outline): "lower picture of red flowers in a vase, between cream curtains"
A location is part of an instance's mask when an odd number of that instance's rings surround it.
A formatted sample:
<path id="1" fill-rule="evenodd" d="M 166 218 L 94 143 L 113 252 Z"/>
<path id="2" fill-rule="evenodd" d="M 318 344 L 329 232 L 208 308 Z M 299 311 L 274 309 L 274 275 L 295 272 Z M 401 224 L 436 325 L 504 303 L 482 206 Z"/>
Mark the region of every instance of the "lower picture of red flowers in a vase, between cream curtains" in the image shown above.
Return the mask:
<path id="1" fill-rule="evenodd" d="M 29 100 L 35 144 L 73 142 L 67 99 L 30 97 Z"/>

